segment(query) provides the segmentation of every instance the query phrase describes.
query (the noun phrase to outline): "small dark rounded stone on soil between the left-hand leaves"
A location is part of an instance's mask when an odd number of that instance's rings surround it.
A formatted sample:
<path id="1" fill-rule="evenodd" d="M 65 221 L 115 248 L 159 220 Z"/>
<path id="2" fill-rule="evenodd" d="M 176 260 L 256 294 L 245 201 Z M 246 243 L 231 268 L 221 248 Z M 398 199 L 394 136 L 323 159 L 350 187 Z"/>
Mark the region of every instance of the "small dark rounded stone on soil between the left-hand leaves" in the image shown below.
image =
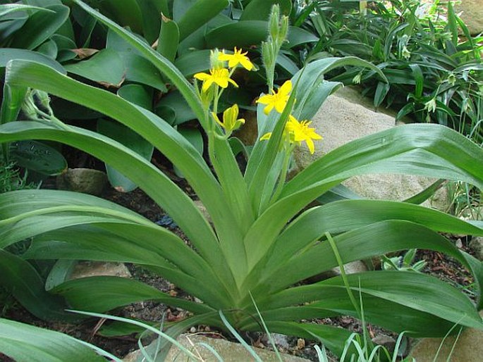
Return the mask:
<path id="1" fill-rule="evenodd" d="M 68 168 L 57 176 L 57 188 L 83 194 L 99 196 L 107 185 L 107 176 L 99 170 L 90 168 Z"/>

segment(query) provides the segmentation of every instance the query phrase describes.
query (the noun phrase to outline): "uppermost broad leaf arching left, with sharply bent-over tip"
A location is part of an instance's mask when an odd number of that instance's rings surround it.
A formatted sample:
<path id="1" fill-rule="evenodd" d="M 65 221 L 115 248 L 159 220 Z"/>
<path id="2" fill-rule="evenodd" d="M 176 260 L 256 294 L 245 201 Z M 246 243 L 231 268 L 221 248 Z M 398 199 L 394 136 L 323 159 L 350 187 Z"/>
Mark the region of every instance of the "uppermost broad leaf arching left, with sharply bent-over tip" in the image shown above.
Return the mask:
<path id="1" fill-rule="evenodd" d="M 41 64 L 27 61 L 12 62 L 8 66 L 7 73 L 6 82 L 8 82 L 11 87 L 14 85 L 20 87 L 27 85 L 55 94 L 63 99 L 75 101 L 78 104 L 105 113 L 107 116 L 120 121 L 124 125 L 135 130 L 135 132 L 142 137 L 145 137 L 145 139 L 151 142 L 161 151 L 161 153 L 165 154 L 166 157 L 168 157 L 173 164 L 181 170 L 188 182 L 190 182 L 190 185 L 195 189 L 195 192 L 200 197 L 212 217 L 221 248 L 228 259 L 231 268 L 236 268 L 238 270 L 246 269 L 246 262 L 245 258 L 243 258 L 241 243 L 232 242 L 233 235 L 244 235 L 245 232 L 242 232 L 243 230 L 240 229 L 240 225 L 233 216 L 231 208 L 229 208 L 226 202 L 224 202 L 224 194 L 227 193 L 226 190 L 221 190 L 216 178 L 212 175 L 209 167 L 204 162 L 204 159 L 199 152 L 196 151 L 195 147 L 174 130 L 173 127 L 144 108 L 135 106 L 134 104 L 102 89 L 83 85 L 82 83 L 61 75 Z M 56 139 L 56 141 L 61 142 L 61 139 Z M 78 148 L 87 152 L 92 152 L 90 151 L 90 144 L 82 144 L 81 146 L 78 146 Z M 231 156 L 233 158 L 233 154 L 231 154 Z M 233 158 L 233 163 L 234 162 Z M 109 165 L 114 166 L 112 161 L 108 163 Z M 230 175 L 233 175 L 233 172 L 230 172 L 232 169 L 233 168 L 228 168 L 226 173 L 224 172 L 221 175 L 224 177 L 224 180 L 230 180 Z M 121 170 L 121 168 L 117 168 L 117 170 Z M 127 175 L 127 173 L 124 173 L 124 175 Z M 140 175 L 138 175 L 138 177 L 139 176 Z M 134 180 L 133 177 L 129 178 L 130 180 Z M 243 183 L 243 186 L 240 187 L 240 192 L 243 192 L 243 188 L 246 188 L 245 182 L 243 182 L 243 177 L 239 175 L 239 177 L 235 177 L 233 180 L 241 180 L 240 182 Z M 144 189 L 145 192 L 147 192 L 147 183 L 150 183 L 150 187 L 152 188 L 153 185 L 151 180 L 145 179 L 145 182 L 136 182 L 136 184 Z M 237 185 L 239 185 L 239 183 L 230 185 L 230 187 L 236 188 Z M 147 192 L 147 194 L 149 194 L 149 192 Z M 158 202 L 152 194 L 150 194 L 150 196 Z M 176 201 L 170 202 L 176 204 Z M 166 210 L 169 209 L 169 205 L 161 205 L 164 206 Z M 245 201 L 245 205 L 245 210 L 247 210 L 249 208 L 247 201 Z M 180 214 L 178 213 L 178 215 Z M 177 216 L 172 216 L 178 225 L 188 224 L 186 220 L 177 220 Z M 194 225 L 191 225 L 191 228 L 193 227 Z M 184 227 L 182 228 L 185 230 Z M 197 233 L 190 234 L 187 232 L 187 235 L 190 239 L 194 239 L 195 235 L 197 235 L 198 238 L 200 237 Z M 212 233 L 212 239 L 213 236 Z M 234 247 L 237 245 L 239 246 L 238 249 Z M 235 274 L 240 275 L 239 272 Z"/>

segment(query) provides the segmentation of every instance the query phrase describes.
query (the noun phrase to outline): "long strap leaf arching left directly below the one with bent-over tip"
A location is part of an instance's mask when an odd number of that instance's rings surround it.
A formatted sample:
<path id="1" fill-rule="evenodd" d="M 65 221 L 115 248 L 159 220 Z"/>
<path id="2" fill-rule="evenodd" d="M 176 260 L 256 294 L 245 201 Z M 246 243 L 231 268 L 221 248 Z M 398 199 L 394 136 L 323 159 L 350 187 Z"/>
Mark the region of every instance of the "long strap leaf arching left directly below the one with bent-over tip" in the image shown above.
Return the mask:
<path id="1" fill-rule="evenodd" d="M 216 270 L 224 285 L 231 285 L 231 271 L 219 251 L 219 244 L 211 227 L 191 199 L 166 175 L 130 149 L 95 132 L 69 127 L 59 130 L 49 125 L 31 122 L 14 122 L 1 126 L 0 142 L 13 139 L 61 140 L 71 146 L 90 151 L 91 154 L 128 175 L 149 196 L 157 201 L 192 239 L 192 243 L 209 265 Z M 0 196 L 1 199 L 1 196 Z"/>

